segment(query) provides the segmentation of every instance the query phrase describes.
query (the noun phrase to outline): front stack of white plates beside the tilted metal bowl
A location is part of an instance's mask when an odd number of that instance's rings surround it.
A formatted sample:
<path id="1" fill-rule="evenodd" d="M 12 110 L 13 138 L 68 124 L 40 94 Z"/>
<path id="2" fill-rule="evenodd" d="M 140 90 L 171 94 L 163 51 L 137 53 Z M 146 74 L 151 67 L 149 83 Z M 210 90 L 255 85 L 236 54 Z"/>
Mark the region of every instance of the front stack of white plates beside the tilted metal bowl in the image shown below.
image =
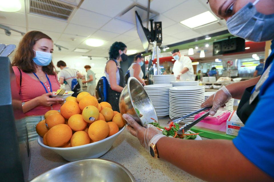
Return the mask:
<path id="1" fill-rule="evenodd" d="M 169 114 L 169 88 L 172 84 L 153 84 L 144 86 L 158 117 Z"/>

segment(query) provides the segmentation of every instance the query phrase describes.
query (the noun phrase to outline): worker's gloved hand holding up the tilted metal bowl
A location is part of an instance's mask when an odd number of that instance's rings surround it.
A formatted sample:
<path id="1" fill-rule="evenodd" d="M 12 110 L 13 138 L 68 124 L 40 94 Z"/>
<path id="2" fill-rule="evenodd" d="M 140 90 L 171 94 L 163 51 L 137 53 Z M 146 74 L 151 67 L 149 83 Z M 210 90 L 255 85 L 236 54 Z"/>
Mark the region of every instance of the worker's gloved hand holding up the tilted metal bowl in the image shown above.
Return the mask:
<path id="1" fill-rule="evenodd" d="M 139 125 L 132 117 L 127 114 L 123 114 L 123 118 L 133 127 L 126 127 L 126 130 L 131 133 L 134 137 L 137 137 L 141 145 L 149 152 L 149 146 L 151 143 L 156 144 L 156 142 L 162 138 L 166 137 L 160 130 L 151 124 L 147 124 L 144 128 Z"/>

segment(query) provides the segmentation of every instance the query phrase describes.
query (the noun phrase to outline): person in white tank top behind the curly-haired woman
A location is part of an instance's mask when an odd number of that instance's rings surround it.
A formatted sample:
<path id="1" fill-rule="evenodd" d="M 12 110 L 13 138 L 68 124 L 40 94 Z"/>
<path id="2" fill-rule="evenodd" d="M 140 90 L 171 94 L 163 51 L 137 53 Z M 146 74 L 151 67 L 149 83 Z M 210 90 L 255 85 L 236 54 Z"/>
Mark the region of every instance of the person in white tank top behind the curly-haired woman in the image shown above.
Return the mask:
<path id="1" fill-rule="evenodd" d="M 141 66 L 144 64 L 144 57 L 139 53 L 134 57 L 133 63 L 129 67 L 129 74 L 130 77 L 135 77 L 137 80 L 139 80 L 140 83 L 142 83 L 144 86 L 146 85 L 143 76 L 144 73 L 141 69 Z"/>

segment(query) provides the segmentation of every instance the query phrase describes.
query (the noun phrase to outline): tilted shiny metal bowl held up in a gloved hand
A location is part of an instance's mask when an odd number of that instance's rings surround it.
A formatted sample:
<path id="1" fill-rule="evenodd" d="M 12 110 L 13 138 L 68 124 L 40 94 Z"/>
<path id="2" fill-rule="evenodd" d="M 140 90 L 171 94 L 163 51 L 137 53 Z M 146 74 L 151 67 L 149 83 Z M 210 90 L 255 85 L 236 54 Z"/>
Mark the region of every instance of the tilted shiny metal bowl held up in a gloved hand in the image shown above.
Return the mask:
<path id="1" fill-rule="evenodd" d="M 146 124 L 153 122 L 151 118 L 158 120 L 154 106 L 148 97 L 146 90 L 134 77 L 128 79 L 128 84 L 120 95 L 119 109 L 122 115 L 130 115 L 143 127 L 145 127 Z M 140 111 L 142 117 L 137 114 L 136 109 Z"/>

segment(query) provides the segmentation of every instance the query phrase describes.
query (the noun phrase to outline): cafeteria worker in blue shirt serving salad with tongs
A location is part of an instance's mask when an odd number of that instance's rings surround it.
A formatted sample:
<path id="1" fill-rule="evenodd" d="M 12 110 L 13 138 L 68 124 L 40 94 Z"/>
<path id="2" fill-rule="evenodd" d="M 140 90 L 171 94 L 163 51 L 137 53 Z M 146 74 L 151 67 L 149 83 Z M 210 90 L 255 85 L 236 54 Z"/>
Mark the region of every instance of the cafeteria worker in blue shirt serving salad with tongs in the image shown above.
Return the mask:
<path id="1" fill-rule="evenodd" d="M 209 5 L 231 34 L 253 42 L 274 39 L 273 0 L 209 0 Z M 274 181 L 274 42 L 271 49 L 262 76 L 227 85 L 201 106 L 212 106 L 214 115 L 229 99 L 241 99 L 237 115 L 245 127 L 232 141 L 165 137 L 153 125 L 144 128 L 124 114 L 132 126 L 126 130 L 154 158 L 158 152 L 159 158 L 206 181 Z M 171 170 L 163 173 L 172 175 Z"/>

